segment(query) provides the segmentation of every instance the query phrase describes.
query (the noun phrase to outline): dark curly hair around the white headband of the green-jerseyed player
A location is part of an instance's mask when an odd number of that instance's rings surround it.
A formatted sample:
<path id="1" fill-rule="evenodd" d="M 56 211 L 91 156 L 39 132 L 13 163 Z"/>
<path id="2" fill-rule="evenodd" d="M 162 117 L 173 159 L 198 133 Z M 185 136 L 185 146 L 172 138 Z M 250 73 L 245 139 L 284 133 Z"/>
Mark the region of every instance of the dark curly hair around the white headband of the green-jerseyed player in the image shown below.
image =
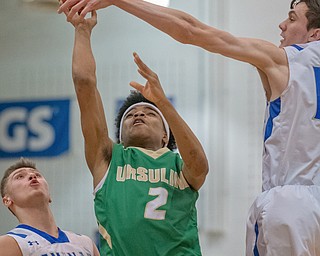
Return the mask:
<path id="1" fill-rule="evenodd" d="M 116 120 L 115 120 L 117 143 L 120 143 L 120 140 L 119 140 L 120 122 L 121 122 L 121 118 L 122 118 L 124 112 L 131 105 L 139 103 L 139 102 L 146 102 L 146 103 L 150 103 L 150 104 L 156 106 L 153 102 L 151 102 L 151 101 L 147 100 L 145 97 L 143 97 L 143 95 L 139 91 L 131 91 L 129 96 L 125 99 L 125 101 L 123 102 L 122 106 L 120 107 L 120 109 L 118 111 L 118 115 L 117 115 Z M 176 141 L 175 141 L 174 136 L 173 136 L 171 131 L 170 131 L 170 138 L 169 138 L 169 142 L 168 142 L 168 146 L 167 147 L 170 150 L 174 150 L 174 149 L 177 148 Z"/>

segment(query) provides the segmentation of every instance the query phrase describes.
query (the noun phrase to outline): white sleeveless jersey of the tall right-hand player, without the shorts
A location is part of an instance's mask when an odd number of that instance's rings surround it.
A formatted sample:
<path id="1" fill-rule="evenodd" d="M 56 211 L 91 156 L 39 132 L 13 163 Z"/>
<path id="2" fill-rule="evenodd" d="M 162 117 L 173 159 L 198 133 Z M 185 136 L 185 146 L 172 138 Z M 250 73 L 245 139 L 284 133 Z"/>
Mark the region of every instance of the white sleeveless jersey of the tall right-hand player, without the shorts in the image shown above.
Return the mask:
<path id="1" fill-rule="evenodd" d="M 320 185 L 320 42 L 285 47 L 289 83 L 265 116 L 263 190 Z"/>

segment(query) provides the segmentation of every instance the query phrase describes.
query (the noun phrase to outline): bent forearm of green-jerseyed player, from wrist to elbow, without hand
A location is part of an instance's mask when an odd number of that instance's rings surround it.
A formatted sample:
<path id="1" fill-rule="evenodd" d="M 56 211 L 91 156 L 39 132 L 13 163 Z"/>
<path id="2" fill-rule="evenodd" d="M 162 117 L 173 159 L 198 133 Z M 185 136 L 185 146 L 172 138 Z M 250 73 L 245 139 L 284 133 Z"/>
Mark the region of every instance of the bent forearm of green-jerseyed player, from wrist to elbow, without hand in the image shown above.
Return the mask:
<path id="1" fill-rule="evenodd" d="M 193 131 L 166 99 L 157 103 L 165 116 L 184 161 L 184 175 L 193 188 L 199 189 L 208 173 L 208 160 Z"/>

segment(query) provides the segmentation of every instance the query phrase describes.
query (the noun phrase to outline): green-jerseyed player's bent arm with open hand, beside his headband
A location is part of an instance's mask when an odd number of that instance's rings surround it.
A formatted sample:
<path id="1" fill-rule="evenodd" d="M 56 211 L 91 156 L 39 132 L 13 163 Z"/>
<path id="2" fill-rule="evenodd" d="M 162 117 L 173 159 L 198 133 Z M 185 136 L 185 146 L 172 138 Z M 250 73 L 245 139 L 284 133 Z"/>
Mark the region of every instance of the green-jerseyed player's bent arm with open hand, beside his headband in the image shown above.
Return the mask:
<path id="1" fill-rule="evenodd" d="M 164 115 L 184 161 L 184 176 L 193 189 L 199 190 L 209 169 L 201 143 L 165 96 L 157 74 L 136 53 L 134 53 L 134 61 L 138 66 L 138 72 L 147 82 L 145 86 L 137 82 L 131 82 L 130 85 L 140 91 L 146 99 L 155 103 Z"/>

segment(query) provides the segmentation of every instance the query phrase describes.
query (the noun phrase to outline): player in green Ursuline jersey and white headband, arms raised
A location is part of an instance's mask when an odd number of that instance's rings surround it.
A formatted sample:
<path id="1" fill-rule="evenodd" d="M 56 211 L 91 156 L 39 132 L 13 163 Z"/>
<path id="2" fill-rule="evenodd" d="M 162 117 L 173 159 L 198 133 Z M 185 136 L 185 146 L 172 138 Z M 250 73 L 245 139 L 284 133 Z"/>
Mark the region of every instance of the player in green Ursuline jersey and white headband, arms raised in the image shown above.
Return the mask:
<path id="1" fill-rule="evenodd" d="M 208 161 L 200 142 L 136 53 L 134 61 L 146 84 L 130 83 L 136 91 L 120 109 L 119 141 L 113 142 L 90 43 L 96 12 L 87 19 L 75 15 L 71 23 L 72 75 L 93 176 L 101 255 L 201 255 L 195 204 Z M 174 141 L 179 154 L 172 151 Z"/>

